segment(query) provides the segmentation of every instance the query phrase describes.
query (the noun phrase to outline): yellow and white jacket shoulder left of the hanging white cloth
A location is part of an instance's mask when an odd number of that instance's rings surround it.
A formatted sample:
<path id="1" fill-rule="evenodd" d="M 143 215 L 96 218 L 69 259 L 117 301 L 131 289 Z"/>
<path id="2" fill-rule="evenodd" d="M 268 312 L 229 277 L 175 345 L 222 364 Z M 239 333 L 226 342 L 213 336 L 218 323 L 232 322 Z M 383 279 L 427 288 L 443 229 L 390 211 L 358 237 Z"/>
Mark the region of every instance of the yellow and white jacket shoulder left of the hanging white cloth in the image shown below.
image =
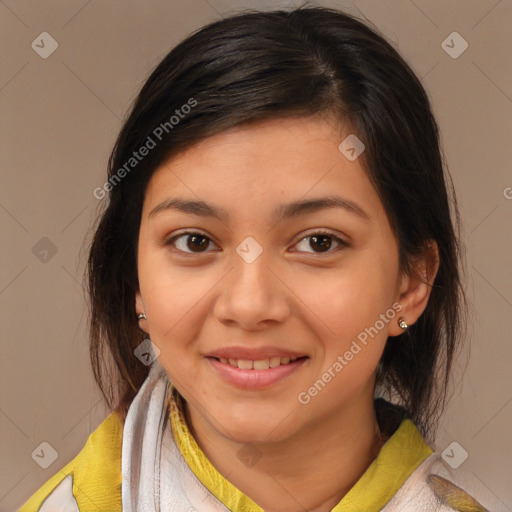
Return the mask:
<path id="1" fill-rule="evenodd" d="M 112 412 L 82 450 L 43 484 L 18 512 L 121 511 L 123 423 Z"/>

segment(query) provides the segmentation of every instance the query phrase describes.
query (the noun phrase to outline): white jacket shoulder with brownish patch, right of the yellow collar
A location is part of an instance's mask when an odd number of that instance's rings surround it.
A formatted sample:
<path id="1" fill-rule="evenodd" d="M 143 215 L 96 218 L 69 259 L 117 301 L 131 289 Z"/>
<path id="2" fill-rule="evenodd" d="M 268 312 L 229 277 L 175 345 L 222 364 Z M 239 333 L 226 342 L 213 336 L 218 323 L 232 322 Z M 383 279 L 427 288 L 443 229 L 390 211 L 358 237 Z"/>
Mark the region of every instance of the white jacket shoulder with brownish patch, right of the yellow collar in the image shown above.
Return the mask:
<path id="1" fill-rule="evenodd" d="M 508 510 L 472 474 L 452 469 L 433 453 L 411 474 L 383 512 L 504 512 Z"/>

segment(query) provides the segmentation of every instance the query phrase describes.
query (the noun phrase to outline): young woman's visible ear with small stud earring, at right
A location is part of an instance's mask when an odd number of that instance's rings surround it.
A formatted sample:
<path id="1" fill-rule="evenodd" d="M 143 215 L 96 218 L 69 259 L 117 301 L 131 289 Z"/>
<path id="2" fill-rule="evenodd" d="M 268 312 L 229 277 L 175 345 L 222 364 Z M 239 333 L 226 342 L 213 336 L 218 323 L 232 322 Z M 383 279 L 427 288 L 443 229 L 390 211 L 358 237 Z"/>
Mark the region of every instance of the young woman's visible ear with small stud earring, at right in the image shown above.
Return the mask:
<path id="1" fill-rule="evenodd" d="M 398 319 L 404 318 L 408 325 L 418 320 L 428 304 L 434 279 L 439 269 L 439 248 L 435 240 L 429 240 L 422 256 L 411 262 L 410 273 L 403 273 L 396 302 L 402 305 L 396 321 L 392 322 L 389 336 L 398 336 L 404 330 Z"/>

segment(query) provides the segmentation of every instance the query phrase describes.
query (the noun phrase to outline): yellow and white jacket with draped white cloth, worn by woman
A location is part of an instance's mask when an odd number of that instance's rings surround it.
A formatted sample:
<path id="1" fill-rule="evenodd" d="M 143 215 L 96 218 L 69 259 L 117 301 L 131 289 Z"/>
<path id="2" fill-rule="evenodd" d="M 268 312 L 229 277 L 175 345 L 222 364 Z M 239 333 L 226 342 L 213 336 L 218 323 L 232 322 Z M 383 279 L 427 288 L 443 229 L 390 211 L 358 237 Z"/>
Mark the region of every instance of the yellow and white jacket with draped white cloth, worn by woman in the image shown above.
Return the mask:
<path id="1" fill-rule="evenodd" d="M 170 421 L 169 421 L 170 419 Z M 160 471 L 160 466 L 165 471 Z M 402 420 L 331 512 L 505 512 Z M 500 508 L 501 506 L 501 508 Z M 492 508 L 489 508 L 492 507 Z M 115 412 L 18 512 L 263 512 L 211 464 L 155 360 L 124 425 Z"/>

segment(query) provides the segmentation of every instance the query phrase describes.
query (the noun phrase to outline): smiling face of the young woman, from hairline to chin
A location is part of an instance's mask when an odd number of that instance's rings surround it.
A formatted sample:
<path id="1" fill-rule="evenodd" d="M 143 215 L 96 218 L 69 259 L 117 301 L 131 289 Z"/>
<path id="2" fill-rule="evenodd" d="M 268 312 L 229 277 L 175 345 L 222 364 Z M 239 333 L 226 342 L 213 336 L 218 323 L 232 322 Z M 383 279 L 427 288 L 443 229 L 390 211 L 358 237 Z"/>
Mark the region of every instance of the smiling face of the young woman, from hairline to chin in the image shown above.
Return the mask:
<path id="1" fill-rule="evenodd" d="M 319 118 L 236 128 L 148 184 L 141 327 L 188 414 L 231 440 L 283 440 L 372 402 L 401 332 L 397 241 L 338 149 L 349 133 Z"/>

